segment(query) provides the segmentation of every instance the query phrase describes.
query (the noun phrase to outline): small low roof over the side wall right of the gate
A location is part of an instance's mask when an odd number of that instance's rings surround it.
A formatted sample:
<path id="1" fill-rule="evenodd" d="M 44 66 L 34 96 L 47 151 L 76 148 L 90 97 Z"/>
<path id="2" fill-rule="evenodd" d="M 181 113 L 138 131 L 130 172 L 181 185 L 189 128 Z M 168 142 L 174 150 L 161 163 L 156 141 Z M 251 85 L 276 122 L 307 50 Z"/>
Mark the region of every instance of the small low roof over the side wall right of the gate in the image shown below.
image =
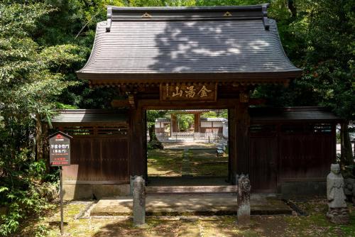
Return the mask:
<path id="1" fill-rule="evenodd" d="M 322 107 L 250 108 L 252 123 L 276 123 L 280 121 L 331 122 L 342 121 L 331 111 Z"/>

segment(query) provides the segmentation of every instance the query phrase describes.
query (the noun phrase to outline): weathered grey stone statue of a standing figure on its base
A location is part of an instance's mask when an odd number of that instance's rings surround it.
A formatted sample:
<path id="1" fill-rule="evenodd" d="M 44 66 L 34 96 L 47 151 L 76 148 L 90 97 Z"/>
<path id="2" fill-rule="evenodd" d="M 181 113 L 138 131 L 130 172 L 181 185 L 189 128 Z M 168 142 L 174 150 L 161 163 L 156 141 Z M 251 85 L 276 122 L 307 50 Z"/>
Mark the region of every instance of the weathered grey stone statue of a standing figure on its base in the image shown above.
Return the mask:
<path id="1" fill-rule="evenodd" d="M 340 173 L 339 164 L 332 164 L 330 170 L 327 176 L 327 217 L 334 224 L 348 224 L 349 210 L 345 202 L 344 178 Z"/>

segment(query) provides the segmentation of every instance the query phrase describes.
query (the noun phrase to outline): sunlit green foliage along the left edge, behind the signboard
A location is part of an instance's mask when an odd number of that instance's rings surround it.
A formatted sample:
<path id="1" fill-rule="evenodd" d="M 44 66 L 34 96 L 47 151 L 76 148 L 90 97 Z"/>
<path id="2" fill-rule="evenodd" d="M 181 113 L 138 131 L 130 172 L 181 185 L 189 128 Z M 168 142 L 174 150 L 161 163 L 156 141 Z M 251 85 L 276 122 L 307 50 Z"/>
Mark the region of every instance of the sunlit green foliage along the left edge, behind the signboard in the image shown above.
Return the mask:
<path id="1" fill-rule="evenodd" d="M 0 4 L 0 206 L 7 207 L 0 217 L 2 236 L 46 207 L 37 191 L 46 167 L 35 159 L 35 123 L 52 113 L 65 89 L 79 84 L 65 73 L 84 62 L 78 45 L 35 41 L 38 23 L 53 11 L 40 2 Z"/>

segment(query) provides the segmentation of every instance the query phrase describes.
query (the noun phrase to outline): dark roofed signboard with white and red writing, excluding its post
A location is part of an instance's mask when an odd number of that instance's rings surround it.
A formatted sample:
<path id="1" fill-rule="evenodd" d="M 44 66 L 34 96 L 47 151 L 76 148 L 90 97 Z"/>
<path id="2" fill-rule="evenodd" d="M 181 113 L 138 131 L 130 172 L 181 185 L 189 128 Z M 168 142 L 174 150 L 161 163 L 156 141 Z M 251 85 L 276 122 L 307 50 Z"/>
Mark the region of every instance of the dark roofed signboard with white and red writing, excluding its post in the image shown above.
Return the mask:
<path id="1" fill-rule="evenodd" d="M 50 136 L 50 166 L 70 165 L 70 138 L 71 136 L 62 132 Z"/>

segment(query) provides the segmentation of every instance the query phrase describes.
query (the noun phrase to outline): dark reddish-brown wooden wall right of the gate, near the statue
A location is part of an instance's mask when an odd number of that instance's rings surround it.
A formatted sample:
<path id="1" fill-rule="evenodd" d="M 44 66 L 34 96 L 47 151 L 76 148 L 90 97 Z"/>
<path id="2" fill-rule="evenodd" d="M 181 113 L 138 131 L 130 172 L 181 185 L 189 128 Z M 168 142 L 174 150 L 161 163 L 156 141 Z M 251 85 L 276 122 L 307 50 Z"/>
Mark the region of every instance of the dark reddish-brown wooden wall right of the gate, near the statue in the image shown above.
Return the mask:
<path id="1" fill-rule="evenodd" d="M 335 160 L 335 125 L 330 125 L 330 132 L 286 132 L 280 124 L 274 126 L 266 131 L 266 125 L 260 125 L 261 131 L 251 128 L 249 175 L 253 191 L 275 192 L 281 182 L 324 180 Z M 292 126 L 305 128 L 304 124 Z"/>

